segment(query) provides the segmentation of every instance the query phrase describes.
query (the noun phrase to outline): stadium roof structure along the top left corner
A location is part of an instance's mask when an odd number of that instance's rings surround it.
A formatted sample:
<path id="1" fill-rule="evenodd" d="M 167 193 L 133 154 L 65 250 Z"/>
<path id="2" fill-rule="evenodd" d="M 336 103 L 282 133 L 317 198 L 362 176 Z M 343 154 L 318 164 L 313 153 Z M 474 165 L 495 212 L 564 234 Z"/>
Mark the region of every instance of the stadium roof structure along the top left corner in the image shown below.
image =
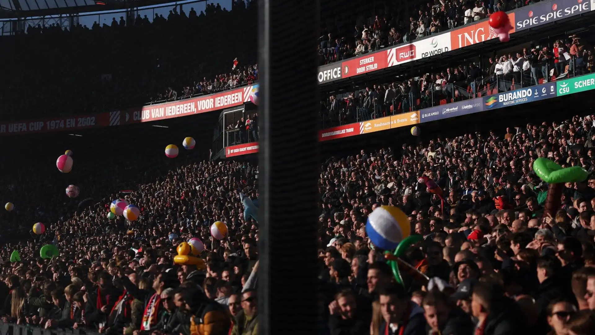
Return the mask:
<path id="1" fill-rule="evenodd" d="M 171 0 L 0 0 L 0 18 L 123 10 L 169 2 Z"/>

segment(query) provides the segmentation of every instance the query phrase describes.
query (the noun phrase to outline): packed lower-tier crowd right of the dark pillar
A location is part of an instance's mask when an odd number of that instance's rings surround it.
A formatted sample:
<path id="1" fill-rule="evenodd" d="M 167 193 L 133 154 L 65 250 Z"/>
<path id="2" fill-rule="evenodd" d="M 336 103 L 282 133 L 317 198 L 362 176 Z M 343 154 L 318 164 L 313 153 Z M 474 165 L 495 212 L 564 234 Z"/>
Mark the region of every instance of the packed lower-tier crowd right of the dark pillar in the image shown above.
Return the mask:
<path id="1" fill-rule="evenodd" d="M 330 333 L 593 334 L 593 118 L 325 162 L 319 256 Z M 533 172 L 537 157 L 591 173 L 565 184 L 562 206 L 545 218 L 549 185 Z M 408 290 L 368 243 L 367 216 L 381 205 L 398 206 L 422 235 L 403 260 L 428 279 L 403 275 Z"/>

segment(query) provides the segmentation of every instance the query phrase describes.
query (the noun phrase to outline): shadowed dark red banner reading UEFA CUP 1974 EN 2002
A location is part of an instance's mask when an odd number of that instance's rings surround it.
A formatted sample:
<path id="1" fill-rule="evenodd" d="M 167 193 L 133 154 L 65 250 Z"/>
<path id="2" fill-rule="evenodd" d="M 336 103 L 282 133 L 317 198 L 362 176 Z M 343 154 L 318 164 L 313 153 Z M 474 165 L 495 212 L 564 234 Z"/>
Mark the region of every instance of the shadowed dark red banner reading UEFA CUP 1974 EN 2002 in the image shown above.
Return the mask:
<path id="1" fill-rule="evenodd" d="M 109 113 L 72 117 L 49 117 L 39 120 L 2 122 L 0 123 L 0 135 L 76 131 L 79 129 L 105 126 L 109 126 Z"/>

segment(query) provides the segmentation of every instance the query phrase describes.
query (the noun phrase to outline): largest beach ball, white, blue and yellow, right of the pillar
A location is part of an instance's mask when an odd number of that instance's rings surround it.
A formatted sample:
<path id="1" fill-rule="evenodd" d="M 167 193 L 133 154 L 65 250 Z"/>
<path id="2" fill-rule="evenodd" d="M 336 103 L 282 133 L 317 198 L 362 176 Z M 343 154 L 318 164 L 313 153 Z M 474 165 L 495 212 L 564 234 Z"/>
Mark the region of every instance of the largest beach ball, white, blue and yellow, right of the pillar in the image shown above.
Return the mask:
<path id="1" fill-rule="evenodd" d="M 380 206 L 368 215 L 366 233 L 374 246 L 393 250 L 400 241 L 409 237 L 411 225 L 402 210 L 394 206 Z"/>

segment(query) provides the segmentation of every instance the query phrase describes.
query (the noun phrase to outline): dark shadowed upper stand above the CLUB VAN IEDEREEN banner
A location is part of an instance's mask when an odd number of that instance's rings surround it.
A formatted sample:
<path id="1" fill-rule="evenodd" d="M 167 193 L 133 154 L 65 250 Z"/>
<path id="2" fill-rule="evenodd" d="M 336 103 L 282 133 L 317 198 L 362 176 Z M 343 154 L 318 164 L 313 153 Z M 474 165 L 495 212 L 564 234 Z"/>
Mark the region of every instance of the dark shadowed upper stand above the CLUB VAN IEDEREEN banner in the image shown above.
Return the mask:
<path id="1" fill-rule="evenodd" d="M 242 0 L 232 11 L 210 4 L 205 13 L 186 14 L 176 7 L 152 23 L 146 15 L 114 17 L 111 26 L 28 27 L 26 34 L 2 36 L 3 47 L 19 57 L 0 56 L 4 77 L 14 78 L 0 83 L 0 113 L 23 120 L 112 111 L 248 85 L 258 78 L 256 7 Z M 225 47 L 187 39 L 205 33 Z"/>

